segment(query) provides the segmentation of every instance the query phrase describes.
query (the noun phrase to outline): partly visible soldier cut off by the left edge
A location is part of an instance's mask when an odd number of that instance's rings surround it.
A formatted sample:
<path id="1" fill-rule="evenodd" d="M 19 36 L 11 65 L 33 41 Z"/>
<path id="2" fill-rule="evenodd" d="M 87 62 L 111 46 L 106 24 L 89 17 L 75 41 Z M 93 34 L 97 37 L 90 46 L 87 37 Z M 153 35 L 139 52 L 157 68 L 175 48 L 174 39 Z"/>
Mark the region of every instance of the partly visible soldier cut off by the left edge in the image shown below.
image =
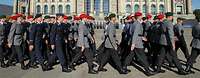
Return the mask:
<path id="1" fill-rule="evenodd" d="M 2 68 L 6 68 L 7 65 L 5 64 L 4 62 L 4 59 L 5 59 L 5 50 L 4 50 L 4 47 L 5 47 L 5 18 L 6 16 L 5 15 L 2 15 L 0 16 L 0 63 L 1 63 L 1 67 Z"/>

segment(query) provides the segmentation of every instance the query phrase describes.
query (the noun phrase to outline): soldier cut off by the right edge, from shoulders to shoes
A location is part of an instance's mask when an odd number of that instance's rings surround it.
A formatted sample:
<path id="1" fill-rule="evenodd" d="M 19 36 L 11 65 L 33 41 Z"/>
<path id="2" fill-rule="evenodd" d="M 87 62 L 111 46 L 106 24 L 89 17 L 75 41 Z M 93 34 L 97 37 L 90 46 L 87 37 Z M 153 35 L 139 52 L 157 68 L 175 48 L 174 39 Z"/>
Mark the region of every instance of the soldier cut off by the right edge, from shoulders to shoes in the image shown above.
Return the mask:
<path id="1" fill-rule="evenodd" d="M 192 37 L 193 39 L 190 45 L 192 47 L 192 51 L 186 63 L 186 69 L 185 69 L 185 71 L 189 73 L 195 73 L 194 71 L 191 70 L 191 68 L 195 60 L 200 54 L 200 21 L 199 20 L 198 20 L 198 23 L 192 27 Z"/>

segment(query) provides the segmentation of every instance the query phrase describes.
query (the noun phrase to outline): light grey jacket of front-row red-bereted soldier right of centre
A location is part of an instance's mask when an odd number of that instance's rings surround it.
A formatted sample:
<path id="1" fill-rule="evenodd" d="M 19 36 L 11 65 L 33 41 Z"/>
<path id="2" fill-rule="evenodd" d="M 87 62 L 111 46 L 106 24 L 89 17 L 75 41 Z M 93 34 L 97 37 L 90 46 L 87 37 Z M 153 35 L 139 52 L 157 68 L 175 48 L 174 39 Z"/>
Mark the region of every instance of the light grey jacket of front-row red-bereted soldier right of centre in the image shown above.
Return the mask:
<path id="1" fill-rule="evenodd" d="M 144 48 L 143 46 L 143 26 L 142 24 L 136 20 L 133 23 L 133 35 L 132 35 L 132 44 L 135 44 L 135 48 Z"/>

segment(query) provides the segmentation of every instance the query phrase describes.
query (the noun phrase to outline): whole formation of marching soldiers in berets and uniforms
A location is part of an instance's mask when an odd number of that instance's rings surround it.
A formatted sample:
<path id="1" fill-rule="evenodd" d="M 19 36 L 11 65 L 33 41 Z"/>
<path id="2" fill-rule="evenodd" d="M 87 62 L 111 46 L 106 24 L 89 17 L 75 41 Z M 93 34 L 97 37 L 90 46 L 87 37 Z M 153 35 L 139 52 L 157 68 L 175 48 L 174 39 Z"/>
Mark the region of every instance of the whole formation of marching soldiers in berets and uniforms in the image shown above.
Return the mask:
<path id="1" fill-rule="evenodd" d="M 21 69 L 27 70 L 40 65 L 43 71 L 49 71 L 60 64 L 62 72 L 71 72 L 76 70 L 75 66 L 87 62 L 88 73 L 97 74 L 106 72 L 104 66 L 109 63 L 120 74 L 128 74 L 131 72 L 128 66 L 139 64 L 147 76 L 152 76 L 164 73 L 162 66 L 168 64 L 176 67 L 180 75 L 195 73 L 191 68 L 200 54 L 200 24 L 192 28 L 190 55 L 184 38 L 184 18 L 177 18 L 173 25 L 171 12 L 155 16 L 153 22 L 150 14 L 142 16 L 136 12 L 123 19 L 121 42 L 116 37 L 117 16 L 105 17 L 103 42 L 96 48 L 95 19 L 89 15 L 56 14 L 43 18 L 41 14 L 35 17 L 16 14 L 7 20 L 2 15 L 0 66 L 7 68 L 20 63 Z M 179 48 L 187 59 L 185 69 L 177 57 Z"/>

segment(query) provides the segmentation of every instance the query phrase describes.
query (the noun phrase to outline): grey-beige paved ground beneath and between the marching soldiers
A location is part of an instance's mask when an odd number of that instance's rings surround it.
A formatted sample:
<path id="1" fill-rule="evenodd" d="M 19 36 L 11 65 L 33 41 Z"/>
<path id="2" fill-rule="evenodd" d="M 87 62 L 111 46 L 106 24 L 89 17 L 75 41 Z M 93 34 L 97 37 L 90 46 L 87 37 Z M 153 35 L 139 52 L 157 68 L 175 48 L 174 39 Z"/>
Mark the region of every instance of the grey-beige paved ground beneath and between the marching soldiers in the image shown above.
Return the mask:
<path id="1" fill-rule="evenodd" d="M 121 31 L 118 31 L 118 35 L 120 35 Z M 101 30 L 96 31 L 96 39 L 97 44 L 101 43 L 100 35 L 102 34 Z M 190 44 L 191 42 L 191 30 L 186 29 L 185 32 L 187 43 Z M 118 38 L 120 40 L 120 38 Z M 181 60 L 185 59 L 183 58 L 183 53 L 178 52 L 178 56 Z M 197 59 L 197 63 L 194 64 L 194 71 L 195 74 L 187 75 L 187 76 L 180 76 L 174 73 L 171 70 L 165 69 L 166 73 L 163 74 L 157 74 L 155 76 L 152 76 L 150 78 L 199 78 L 200 77 L 200 58 Z M 21 70 L 20 66 L 17 65 L 15 67 L 9 67 L 7 69 L 0 68 L 0 78 L 148 78 L 145 76 L 142 72 L 140 72 L 138 69 L 136 69 L 133 66 L 130 66 L 129 68 L 132 70 L 131 73 L 127 75 L 120 75 L 116 70 L 114 70 L 109 64 L 106 65 L 106 68 L 108 69 L 105 73 L 99 73 L 96 75 L 90 75 L 88 74 L 88 68 L 87 64 L 82 64 L 80 66 L 77 66 L 77 71 L 73 71 L 71 73 L 62 73 L 61 67 L 59 65 L 54 67 L 55 69 L 48 72 L 42 72 L 41 68 L 39 69 L 29 69 L 29 70 Z M 176 69 L 172 69 L 175 70 Z"/>

